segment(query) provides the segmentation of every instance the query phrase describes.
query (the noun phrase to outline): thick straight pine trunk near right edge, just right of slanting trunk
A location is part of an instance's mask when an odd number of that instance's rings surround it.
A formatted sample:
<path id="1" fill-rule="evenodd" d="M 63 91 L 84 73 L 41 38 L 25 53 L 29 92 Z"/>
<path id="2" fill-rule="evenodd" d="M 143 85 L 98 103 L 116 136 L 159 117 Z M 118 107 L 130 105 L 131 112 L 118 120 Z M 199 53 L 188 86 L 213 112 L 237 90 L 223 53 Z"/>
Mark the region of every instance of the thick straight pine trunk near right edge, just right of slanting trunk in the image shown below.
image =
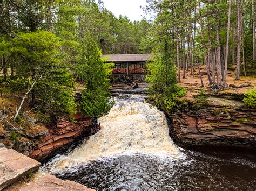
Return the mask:
<path id="1" fill-rule="evenodd" d="M 241 24 L 242 24 L 242 14 L 241 14 L 241 0 L 237 1 L 237 75 L 235 80 L 240 80 L 240 59 L 241 59 Z"/>

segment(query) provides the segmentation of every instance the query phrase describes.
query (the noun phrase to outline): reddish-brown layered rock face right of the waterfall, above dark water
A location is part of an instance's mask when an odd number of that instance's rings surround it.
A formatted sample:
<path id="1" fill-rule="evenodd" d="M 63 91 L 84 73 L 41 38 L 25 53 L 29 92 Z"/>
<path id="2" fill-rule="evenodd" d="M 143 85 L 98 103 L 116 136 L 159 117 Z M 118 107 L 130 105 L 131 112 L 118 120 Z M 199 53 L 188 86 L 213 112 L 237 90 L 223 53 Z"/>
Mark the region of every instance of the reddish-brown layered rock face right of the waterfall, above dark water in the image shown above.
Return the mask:
<path id="1" fill-rule="evenodd" d="M 169 117 L 170 134 L 181 145 L 256 147 L 256 109 L 212 106 Z"/>

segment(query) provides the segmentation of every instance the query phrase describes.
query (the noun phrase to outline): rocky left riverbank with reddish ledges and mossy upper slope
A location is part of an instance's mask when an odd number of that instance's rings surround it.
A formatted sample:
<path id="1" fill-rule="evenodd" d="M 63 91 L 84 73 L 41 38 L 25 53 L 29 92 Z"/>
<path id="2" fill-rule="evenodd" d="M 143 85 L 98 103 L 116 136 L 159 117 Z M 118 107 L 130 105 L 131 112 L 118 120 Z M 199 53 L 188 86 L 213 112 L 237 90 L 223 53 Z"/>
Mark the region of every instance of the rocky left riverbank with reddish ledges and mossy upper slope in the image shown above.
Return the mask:
<path id="1" fill-rule="evenodd" d="M 34 111 L 28 103 L 24 103 L 23 114 L 14 120 L 11 117 L 21 97 L 4 95 L 3 100 L 4 107 L 1 105 L 0 111 L 5 109 L 5 112 L 0 112 L 0 147 L 13 148 L 41 162 L 66 152 L 100 129 L 97 119 L 79 113 L 44 125 L 47 116 Z"/>

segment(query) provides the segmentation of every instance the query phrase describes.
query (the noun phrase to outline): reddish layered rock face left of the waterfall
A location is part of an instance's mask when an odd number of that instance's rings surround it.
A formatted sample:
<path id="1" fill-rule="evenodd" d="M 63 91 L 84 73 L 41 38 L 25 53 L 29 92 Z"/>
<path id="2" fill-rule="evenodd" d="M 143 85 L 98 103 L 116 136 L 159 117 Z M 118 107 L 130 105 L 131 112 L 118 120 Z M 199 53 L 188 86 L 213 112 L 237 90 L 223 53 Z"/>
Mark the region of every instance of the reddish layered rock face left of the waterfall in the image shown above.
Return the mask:
<path id="1" fill-rule="evenodd" d="M 85 136 L 85 133 L 95 133 L 99 126 L 92 124 L 93 119 L 82 118 L 75 116 L 78 122 L 71 124 L 65 118 L 60 119 L 58 123 L 49 129 L 48 135 L 42 138 L 42 142 L 37 145 L 29 156 L 38 161 L 43 161 L 49 158 L 60 147 L 75 142 L 79 137 Z"/>

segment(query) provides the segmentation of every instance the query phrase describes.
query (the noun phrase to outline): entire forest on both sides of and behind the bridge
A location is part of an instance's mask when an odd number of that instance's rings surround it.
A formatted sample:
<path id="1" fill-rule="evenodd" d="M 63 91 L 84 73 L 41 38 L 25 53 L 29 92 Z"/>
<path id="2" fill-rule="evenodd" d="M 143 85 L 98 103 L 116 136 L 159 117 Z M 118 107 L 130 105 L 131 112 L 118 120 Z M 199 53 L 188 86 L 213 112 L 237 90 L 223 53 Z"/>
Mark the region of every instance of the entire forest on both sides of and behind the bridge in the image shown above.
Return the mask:
<path id="1" fill-rule="evenodd" d="M 102 1 L 4 0 L 1 92 L 23 94 L 22 103 L 29 98 L 53 121 L 75 112 L 77 104 L 87 116 L 102 116 L 113 104 L 112 65 L 100 55 L 136 53 L 152 53 L 146 79 L 156 104 L 172 105 L 186 94 L 176 84 L 188 70 L 198 70 L 201 79 L 202 66 L 208 84 L 225 89 L 227 69 L 235 70 L 235 80 L 255 73 L 254 8 L 253 0 L 149 1 L 143 8 L 149 17 L 131 22 L 116 18 Z M 79 81 L 85 90 L 75 103 Z"/>

